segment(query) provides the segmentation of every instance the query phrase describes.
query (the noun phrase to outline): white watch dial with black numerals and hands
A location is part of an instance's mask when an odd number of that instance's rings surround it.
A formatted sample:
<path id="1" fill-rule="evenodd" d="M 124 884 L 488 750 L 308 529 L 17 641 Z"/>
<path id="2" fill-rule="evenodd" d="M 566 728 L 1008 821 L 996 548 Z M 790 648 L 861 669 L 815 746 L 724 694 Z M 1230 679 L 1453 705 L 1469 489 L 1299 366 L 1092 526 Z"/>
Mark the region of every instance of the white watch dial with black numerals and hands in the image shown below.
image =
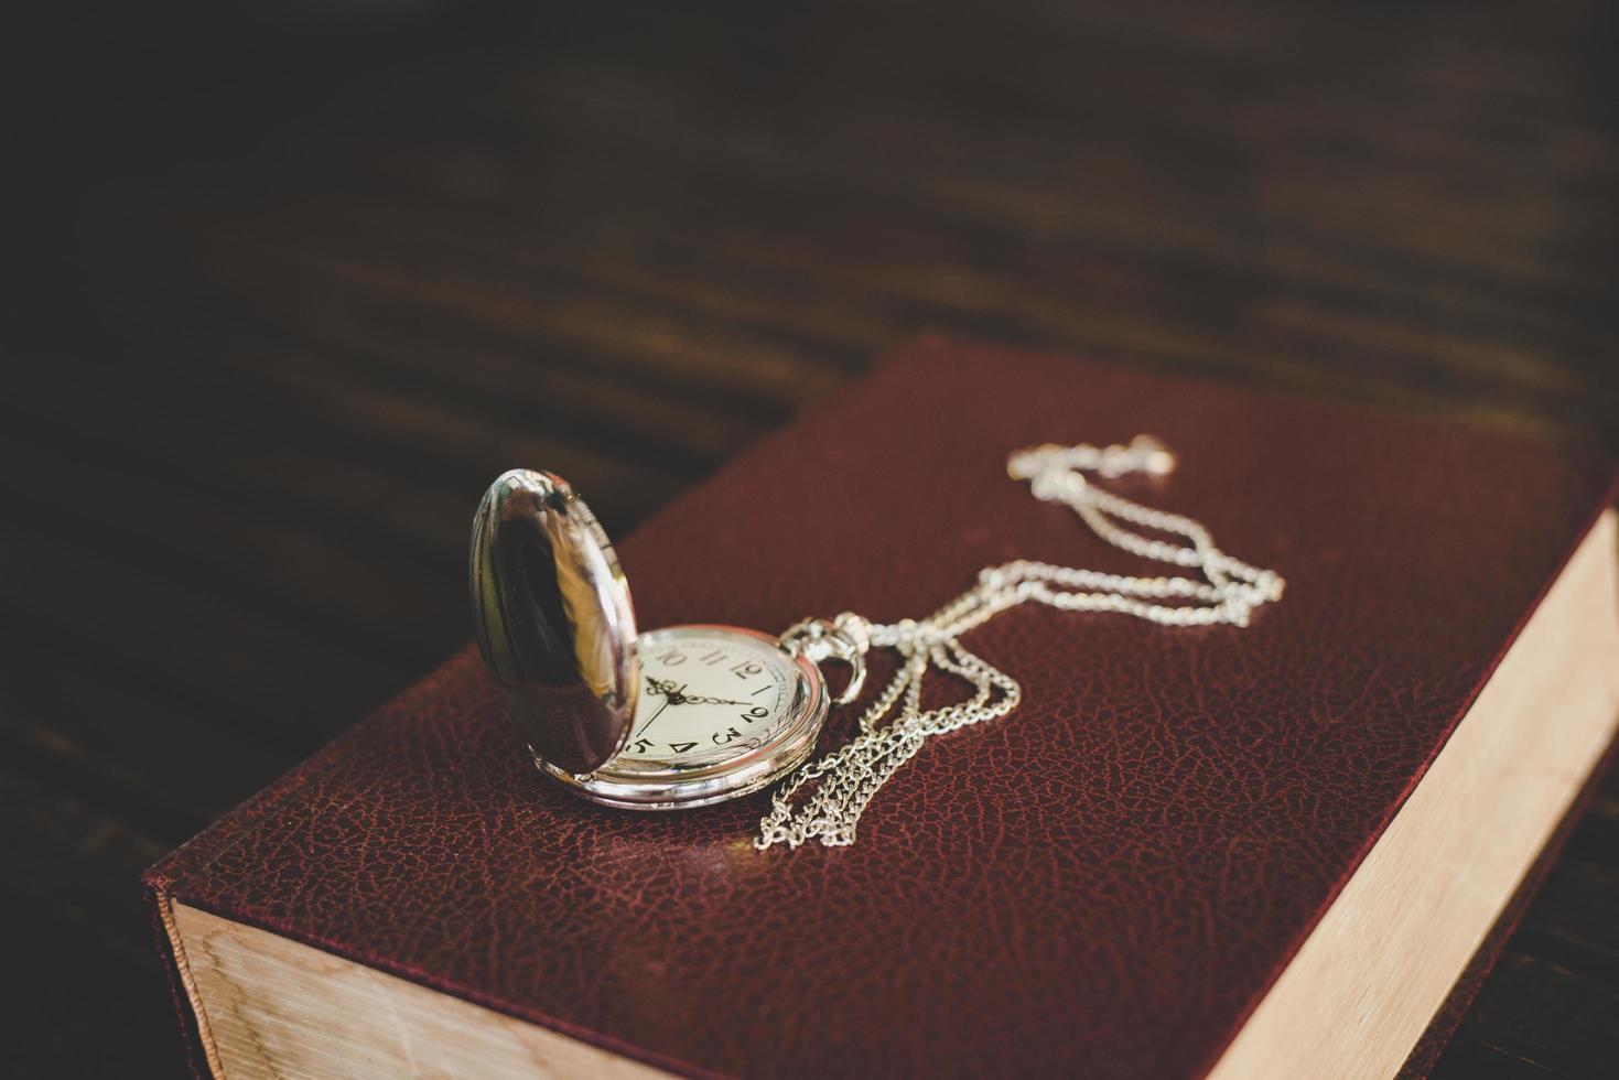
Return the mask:
<path id="1" fill-rule="evenodd" d="M 620 766 L 699 766 L 776 742 L 793 719 L 800 674 L 769 640 L 691 627 L 636 641 L 641 693 Z"/>

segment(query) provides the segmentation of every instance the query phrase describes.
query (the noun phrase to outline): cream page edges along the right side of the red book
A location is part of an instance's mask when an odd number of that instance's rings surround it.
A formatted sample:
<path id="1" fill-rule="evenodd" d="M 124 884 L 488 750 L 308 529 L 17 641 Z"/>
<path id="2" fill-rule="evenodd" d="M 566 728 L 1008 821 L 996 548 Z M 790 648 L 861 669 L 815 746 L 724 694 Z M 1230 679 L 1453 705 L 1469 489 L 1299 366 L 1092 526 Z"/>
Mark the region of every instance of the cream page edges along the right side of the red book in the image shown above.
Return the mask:
<path id="1" fill-rule="evenodd" d="M 1593 625 L 1596 638 L 1583 638 Z M 1538 670 L 1525 670 L 1543 654 L 1554 654 L 1559 644 L 1566 644 L 1562 638 L 1570 635 L 1583 643 L 1585 664 L 1559 667 L 1541 662 Z M 1211 1080 L 1399 1074 L 1616 737 L 1619 664 L 1604 665 L 1603 656 L 1619 657 L 1619 512 L 1614 508 L 1604 510 L 1579 544 L 1428 774 L 1214 1062 L 1208 1074 Z M 1527 819 L 1535 824 L 1533 834 L 1519 837 L 1511 860 L 1502 858 L 1493 868 L 1496 881 L 1478 889 L 1477 895 L 1464 897 L 1467 918 L 1455 918 L 1457 905 L 1444 902 L 1447 894 L 1455 899 L 1455 887 L 1465 889 L 1464 879 L 1475 866 L 1465 860 L 1447 863 L 1443 848 L 1417 845 L 1415 837 L 1434 837 L 1436 824 L 1446 819 L 1444 797 L 1468 782 L 1480 800 L 1488 801 L 1488 795 L 1498 790 L 1468 766 L 1489 751 L 1491 738 L 1509 743 L 1507 737 L 1515 732 L 1519 742 L 1525 742 L 1528 727 L 1514 721 L 1522 721 L 1520 698 L 1535 688 L 1546 690 L 1551 698 L 1543 706 L 1546 714 L 1559 708 L 1559 693 L 1564 699 L 1580 695 L 1591 699 L 1583 714 L 1570 709 L 1582 724 L 1574 737 L 1540 740 L 1541 746 L 1561 743 L 1561 753 L 1543 750 L 1538 756 L 1512 756 L 1511 745 L 1496 746 L 1494 758 L 1488 761 L 1494 771 L 1491 780 L 1506 784 L 1517 776 L 1522 782 L 1523 776 L 1540 769 L 1554 774 L 1546 785 L 1554 790 L 1541 793 L 1541 808 Z M 1535 743 L 1532 738 L 1527 742 Z M 1498 801 L 1514 805 L 1511 798 Z M 1468 810 L 1478 811 L 1480 806 L 1470 805 Z M 1468 819 L 1465 829 L 1447 837 L 1452 842 L 1493 834 L 1470 813 L 1457 813 L 1452 806 L 1449 816 L 1452 821 Z M 1426 968 L 1405 959 L 1405 973 L 1415 975 L 1420 988 L 1413 988 L 1412 980 L 1391 984 L 1379 978 L 1379 965 L 1387 970 L 1400 963 L 1391 957 L 1397 949 L 1396 934 L 1387 933 L 1394 921 L 1378 915 L 1379 907 L 1392 908 L 1396 902 L 1439 912 L 1430 915 L 1428 923 L 1443 918 L 1452 928 L 1444 955 L 1430 955 Z M 1459 931 L 1462 926 L 1465 934 Z M 1396 999 L 1402 1007 L 1391 1007 Z M 1399 1035 L 1392 1033 L 1394 1028 Z"/>

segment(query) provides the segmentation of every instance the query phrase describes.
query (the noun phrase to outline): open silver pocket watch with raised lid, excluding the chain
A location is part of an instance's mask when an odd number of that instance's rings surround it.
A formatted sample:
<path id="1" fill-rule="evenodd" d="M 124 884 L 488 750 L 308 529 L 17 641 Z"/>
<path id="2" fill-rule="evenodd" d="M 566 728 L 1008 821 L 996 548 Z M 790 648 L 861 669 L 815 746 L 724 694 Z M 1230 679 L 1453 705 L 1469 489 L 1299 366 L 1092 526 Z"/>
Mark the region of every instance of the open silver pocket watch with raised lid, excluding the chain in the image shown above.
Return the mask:
<path id="1" fill-rule="evenodd" d="M 534 763 L 597 803 L 703 806 L 769 785 L 814 750 L 840 659 L 852 699 L 863 620 L 787 635 L 722 625 L 636 633 L 630 585 L 584 500 L 554 473 L 512 470 L 473 520 L 478 646 Z"/>

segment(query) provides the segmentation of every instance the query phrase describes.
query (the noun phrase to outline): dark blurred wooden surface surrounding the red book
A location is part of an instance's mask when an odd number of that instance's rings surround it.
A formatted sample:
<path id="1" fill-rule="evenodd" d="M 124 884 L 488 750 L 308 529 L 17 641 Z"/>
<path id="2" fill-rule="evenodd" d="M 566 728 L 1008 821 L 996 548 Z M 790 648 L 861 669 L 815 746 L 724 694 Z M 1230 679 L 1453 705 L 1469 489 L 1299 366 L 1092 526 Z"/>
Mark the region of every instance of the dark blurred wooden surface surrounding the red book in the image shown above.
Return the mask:
<path id="1" fill-rule="evenodd" d="M 510 465 L 625 533 L 923 330 L 1619 452 L 1611 3 L 159 0 L 0 50 L 6 1074 L 181 1072 L 141 868 L 466 641 Z M 1439 1072 L 1616 1025 L 1609 782 Z"/>

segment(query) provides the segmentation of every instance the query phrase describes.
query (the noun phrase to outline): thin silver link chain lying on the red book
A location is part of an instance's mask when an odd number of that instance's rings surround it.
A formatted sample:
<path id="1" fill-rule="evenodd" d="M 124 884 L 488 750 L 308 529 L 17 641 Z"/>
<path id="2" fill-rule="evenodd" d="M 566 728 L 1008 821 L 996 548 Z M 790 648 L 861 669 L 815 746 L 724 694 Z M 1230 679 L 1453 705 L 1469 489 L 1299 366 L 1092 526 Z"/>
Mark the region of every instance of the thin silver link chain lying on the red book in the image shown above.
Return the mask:
<path id="1" fill-rule="evenodd" d="M 979 570 L 973 588 L 928 619 L 879 625 L 845 612 L 835 620 L 805 620 L 784 633 L 782 644 L 788 651 L 852 665 L 850 687 L 839 704 L 858 693 L 866 649 L 894 649 L 900 667 L 861 714 L 860 735 L 782 782 L 771 813 L 759 821 L 754 847 L 798 847 L 810 840 L 827 847 L 853 844 L 866 805 L 916 756 L 928 737 L 994 721 L 1015 709 L 1023 696 L 1017 680 L 967 651 L 960 641 L 968 630 L 1009 607 L 1035 601 L 1059 610 L 1119 612 L 1164 627 L 1245 627 L 1256 607 L 1281 599 L 1284 581 L 1277 573 L 1227 555 L 1198 521 L 1143 507 L 1086 478 L 1086 473 L 1109 479 L 1132 473 L 1167 476 L 1174 468 L 1174 455 L 1151 436 L 1111 447 L 1047 444 L 1007 460 L 1007 473 L 1028 481 L 1036 499 L 1072 507 L 1106 542 L 1143 559 L 1196 568 L 1201 580 L 1124 576 L 1018 559 Z M 1187 542 L 1154 539 L 1128 526 Z M 923 709 L 921 687 L 929 667 L 967 682 L 973 696 Z M 895 708 L 897 716 L 884 722 Z"/>

